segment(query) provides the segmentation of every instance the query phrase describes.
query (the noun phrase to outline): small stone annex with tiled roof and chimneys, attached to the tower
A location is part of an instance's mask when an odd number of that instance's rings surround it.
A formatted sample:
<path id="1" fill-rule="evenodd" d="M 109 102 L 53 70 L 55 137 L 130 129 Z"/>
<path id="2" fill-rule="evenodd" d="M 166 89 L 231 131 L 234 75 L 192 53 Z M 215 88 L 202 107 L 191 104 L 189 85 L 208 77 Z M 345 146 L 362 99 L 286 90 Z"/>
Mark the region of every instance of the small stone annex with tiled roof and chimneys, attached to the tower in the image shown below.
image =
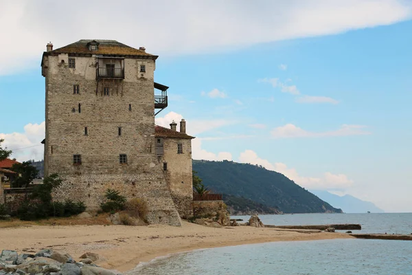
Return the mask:
<path id="1" fill-rule="evenodd" d="M 193 216 L 192 188 L 192 139 L 187 135 L 186 122 L 181 120 L 180 131 L 176 131 L 176 123 L 170 129 L 155 126 L 156 155 L 163 166 L 163 172 L 181 218 Z"/>

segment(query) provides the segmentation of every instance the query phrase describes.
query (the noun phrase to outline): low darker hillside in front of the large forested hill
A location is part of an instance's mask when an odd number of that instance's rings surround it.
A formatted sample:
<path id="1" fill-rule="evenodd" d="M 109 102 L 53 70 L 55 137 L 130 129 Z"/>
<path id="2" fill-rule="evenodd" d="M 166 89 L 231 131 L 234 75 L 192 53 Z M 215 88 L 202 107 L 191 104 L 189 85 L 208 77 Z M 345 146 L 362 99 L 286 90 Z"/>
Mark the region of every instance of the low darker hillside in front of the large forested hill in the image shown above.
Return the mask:
<path id="1" fill-rule="evenodd" d="M 223 201 L 225 201 L 227 205 L 227 210 L 234 216 L 249 214 L 282 214 L 282 212 L 276 208 L 265 206 L 262 203 L 257 203 L 244 197 L 223 194 Z"/>

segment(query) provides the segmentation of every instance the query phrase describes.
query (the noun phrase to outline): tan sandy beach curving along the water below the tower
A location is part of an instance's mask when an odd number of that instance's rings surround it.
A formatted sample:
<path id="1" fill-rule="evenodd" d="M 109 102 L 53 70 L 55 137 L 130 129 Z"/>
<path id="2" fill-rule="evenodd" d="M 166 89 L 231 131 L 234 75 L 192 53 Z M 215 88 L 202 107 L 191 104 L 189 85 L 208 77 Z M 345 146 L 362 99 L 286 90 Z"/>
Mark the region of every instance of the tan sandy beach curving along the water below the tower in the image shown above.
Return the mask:
<path id="1" fill-rule="evenodd" d="M 104 256 L 98 265 L 125 272 L 140 262 L 157 256 L 227 245 L 271 241 L 310 241 L 353 238 L 343 233 L 294 232 L 249 226 L 209 228 L 183 221 L 181 227 L 168 225 L 29 225 L 0 228 L 0 250 L 37 252 L 52 248 L 71 254 L 74 259 L 84 252 Z"/>

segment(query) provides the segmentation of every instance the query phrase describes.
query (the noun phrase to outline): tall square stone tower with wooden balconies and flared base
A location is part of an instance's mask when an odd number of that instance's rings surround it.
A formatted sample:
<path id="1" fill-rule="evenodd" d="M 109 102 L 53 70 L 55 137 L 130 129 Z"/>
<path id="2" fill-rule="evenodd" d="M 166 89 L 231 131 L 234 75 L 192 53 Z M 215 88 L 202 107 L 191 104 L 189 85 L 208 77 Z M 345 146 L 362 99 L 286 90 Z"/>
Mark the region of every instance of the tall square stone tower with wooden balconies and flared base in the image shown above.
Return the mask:
<path id="1" fill-rule="evenodd" d="M 98 209 L 111 188 L 145 199 L 150 223 L 181 224 L 155 153 L 155 109 L 167 107 L 168 88 L 154 82 L 157 57 L 117 41 L 47 44 L 45 175 L 64 179 L 54 199 Z"/>

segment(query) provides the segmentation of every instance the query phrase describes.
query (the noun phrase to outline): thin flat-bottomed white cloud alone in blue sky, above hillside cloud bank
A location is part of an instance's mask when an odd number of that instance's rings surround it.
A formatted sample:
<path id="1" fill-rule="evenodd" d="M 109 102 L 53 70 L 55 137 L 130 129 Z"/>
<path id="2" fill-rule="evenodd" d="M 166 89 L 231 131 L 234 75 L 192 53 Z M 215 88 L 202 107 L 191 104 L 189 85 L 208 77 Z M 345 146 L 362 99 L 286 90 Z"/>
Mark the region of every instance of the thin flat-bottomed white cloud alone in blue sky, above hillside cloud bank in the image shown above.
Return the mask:
<path id="1" fill-rule="evenodd" d="M 310 132 L 301 129 L 294 124 L 286 124 L 279 126 L 271 131 L 272 137 L 288 138 L 288 137 L 337 137 L 345 135 L 370 135 L 369 131 L 365 131 L 366 126 L 363 125 L 347 125 L 343 124 L 341 128 L 334 131 L 325 132 Z"/>

